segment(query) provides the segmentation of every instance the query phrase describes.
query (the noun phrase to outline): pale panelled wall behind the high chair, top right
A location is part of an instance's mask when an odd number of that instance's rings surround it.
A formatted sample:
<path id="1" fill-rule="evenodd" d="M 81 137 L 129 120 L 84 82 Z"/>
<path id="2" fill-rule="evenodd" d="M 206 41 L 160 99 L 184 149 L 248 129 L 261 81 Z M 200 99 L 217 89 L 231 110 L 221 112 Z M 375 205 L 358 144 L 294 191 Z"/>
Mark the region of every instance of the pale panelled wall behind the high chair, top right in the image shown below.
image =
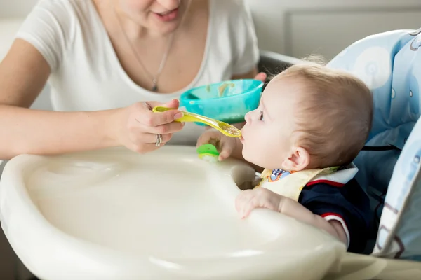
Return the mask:
<path id="1" fill-rule="evenodd" d="M 421 27 L 420 0 L 246 0 L 260 48 L 337 55 L 370 34 Z"/>

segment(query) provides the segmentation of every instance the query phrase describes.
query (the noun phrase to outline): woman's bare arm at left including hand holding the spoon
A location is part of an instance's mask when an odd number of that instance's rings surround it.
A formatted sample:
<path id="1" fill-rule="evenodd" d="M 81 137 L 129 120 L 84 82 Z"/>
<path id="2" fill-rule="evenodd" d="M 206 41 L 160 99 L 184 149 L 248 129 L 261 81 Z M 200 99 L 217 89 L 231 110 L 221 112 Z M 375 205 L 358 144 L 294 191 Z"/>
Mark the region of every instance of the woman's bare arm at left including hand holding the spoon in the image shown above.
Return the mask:
<path id="1" fill-rule="evenodd" d="M 166 142 L 172 132 L 182 128 L 180 123 L 173 123 L 177 110 L 154 114 L 145 103 L 93 112 L 27 109 L 46 84 L 50 71 L 38 50 L 20 39 L 0 63 L 1 159 L 22 153 L 50 155 L 119 145 L 139 152 L 152 151 L 156 133 L 164 134 Z M 178 106 L 175 103 L 173 106 Z"/>

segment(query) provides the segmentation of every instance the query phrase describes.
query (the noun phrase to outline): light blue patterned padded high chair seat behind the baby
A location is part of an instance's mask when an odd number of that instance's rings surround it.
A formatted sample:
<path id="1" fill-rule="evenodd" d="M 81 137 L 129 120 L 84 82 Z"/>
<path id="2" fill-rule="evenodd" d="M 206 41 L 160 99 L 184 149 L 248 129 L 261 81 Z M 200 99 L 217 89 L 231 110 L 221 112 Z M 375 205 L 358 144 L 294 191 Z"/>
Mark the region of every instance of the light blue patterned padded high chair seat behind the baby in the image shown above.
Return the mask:
<path id="1" fill-rule="evenodd" d="M 354 73 L 373 92 L 373 130 L 366 145 L 396 147 L 361 151 L 354 162 L 373 209 L 373 254 L 421 260 L 421 31 L 368 36 L 328 66 Z"/>

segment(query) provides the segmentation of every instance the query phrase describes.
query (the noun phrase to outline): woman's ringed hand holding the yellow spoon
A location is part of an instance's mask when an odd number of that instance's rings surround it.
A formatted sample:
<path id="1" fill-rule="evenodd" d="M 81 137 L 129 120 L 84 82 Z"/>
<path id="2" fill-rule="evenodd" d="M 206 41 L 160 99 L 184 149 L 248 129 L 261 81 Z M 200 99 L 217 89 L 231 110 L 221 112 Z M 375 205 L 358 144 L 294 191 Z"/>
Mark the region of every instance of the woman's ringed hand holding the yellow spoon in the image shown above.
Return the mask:
<path id="1" fill-rule="evenodd" d="M 174 110 L 154 113 L 154 106 L 166 106 Z M 179 102 L 174 99 L 166 104 L 138 102 L 117 113 L 116 139 L 123 146 L 138 153 L 147 153 L 163 146 L 174 132 L 182 130 L 183 123 L 175 122 L 182 117 L 178 111 Z M 161 137 L 161 143 L 159 138 Z"/>

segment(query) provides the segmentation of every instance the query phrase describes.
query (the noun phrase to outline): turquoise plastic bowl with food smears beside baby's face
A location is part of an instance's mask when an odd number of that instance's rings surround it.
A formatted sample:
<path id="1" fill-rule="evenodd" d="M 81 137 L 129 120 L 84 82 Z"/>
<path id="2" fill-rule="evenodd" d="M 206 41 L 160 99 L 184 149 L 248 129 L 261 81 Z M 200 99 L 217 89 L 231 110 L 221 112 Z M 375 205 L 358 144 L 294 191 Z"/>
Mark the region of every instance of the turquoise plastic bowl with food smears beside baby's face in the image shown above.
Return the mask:
<path id="1" fill-rule="evenodd" d="M 263 84 L 260 80 L 242 79 L 194 87 L 181 94 L 180 106 L 225 123 L 241 123 L 248 111 L 258 108 Z"/>

